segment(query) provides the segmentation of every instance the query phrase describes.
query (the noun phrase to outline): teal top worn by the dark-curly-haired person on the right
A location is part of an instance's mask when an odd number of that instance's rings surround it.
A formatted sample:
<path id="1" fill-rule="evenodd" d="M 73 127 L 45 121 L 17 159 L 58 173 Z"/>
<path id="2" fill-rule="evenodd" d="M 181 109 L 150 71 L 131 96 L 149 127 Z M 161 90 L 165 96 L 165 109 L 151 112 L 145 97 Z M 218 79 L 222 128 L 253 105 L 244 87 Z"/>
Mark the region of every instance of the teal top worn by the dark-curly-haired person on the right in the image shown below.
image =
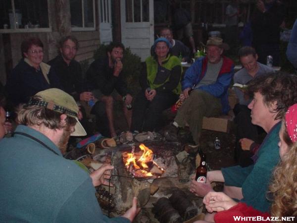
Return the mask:
<path id="1" fill-rule="evenodd" d="M 254 165 L 221 169 L 225 185 L 242 187 L 244 198 L 241 201 L 261 212 L 269 212 L 271 205 L 266 194 L 272 171 L 280 161 L 278 147 L 280 127 L 281 122 L 267 134 L 258 150 L 258 159 Z"/>

